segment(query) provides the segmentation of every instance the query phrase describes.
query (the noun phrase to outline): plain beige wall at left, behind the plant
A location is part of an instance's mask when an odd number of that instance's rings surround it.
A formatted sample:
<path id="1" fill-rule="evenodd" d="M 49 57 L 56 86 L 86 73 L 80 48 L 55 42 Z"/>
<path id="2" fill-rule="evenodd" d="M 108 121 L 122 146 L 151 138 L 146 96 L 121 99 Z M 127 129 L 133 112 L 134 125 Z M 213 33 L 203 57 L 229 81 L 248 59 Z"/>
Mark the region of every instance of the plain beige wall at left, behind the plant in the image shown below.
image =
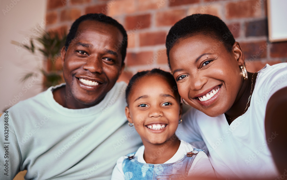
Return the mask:
<path id="1" fill-rule="evenodd" d="M 41 56 L 33 56 L 24 48 L 16 50 L 11 40 L 25 43 L 33 34 L 32 28 L 45 24 L 46 0 L 1 0 L 0 10 L 0 111 L 3 111 L 5 105 L 18 103 L 42 90 L 41 78 L 20 82 L 25 72 L 42 66 Z"/>

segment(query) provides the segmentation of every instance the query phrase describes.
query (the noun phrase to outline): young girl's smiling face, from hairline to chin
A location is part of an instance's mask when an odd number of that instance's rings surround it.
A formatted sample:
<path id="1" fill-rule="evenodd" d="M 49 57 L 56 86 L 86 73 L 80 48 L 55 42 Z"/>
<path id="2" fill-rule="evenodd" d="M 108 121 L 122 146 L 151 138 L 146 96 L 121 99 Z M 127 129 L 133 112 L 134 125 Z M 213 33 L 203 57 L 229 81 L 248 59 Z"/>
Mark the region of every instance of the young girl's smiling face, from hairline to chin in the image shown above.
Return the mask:
<path id="1" fill-rule="evenodd" d="M 141 77 L 133 84 L 126 115 L 143 144 L 162 144 L 175 133 L 181 117 L 178 95 L 160 75 Z"/>

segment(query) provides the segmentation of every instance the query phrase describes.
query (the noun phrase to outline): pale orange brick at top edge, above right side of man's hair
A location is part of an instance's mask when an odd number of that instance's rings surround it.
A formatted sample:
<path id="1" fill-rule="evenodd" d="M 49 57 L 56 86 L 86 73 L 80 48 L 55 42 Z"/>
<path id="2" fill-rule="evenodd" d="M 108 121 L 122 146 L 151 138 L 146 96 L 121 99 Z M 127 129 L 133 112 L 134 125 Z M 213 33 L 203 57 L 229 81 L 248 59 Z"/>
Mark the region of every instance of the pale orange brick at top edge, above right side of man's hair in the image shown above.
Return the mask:
<path id="1" fill-rule="evenodd" d="M 135 0 L 117 0 L 113 2 L 113 5 L 107 11 L 108 16 L 131 14 L 137 10 Z"/>

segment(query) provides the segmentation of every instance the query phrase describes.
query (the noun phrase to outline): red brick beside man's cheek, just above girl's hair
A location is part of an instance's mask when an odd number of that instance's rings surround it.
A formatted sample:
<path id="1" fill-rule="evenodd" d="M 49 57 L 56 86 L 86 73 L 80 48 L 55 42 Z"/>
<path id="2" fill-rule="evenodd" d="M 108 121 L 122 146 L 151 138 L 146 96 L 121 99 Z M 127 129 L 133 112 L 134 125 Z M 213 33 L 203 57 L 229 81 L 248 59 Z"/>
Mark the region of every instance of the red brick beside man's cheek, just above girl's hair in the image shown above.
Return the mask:
<path id="1" fill-rule="evenodd" d="M 148 65 L 154 53 L 152 51 L 145 51 L 139 53 L 127 53 L 127 65 Z"/>

